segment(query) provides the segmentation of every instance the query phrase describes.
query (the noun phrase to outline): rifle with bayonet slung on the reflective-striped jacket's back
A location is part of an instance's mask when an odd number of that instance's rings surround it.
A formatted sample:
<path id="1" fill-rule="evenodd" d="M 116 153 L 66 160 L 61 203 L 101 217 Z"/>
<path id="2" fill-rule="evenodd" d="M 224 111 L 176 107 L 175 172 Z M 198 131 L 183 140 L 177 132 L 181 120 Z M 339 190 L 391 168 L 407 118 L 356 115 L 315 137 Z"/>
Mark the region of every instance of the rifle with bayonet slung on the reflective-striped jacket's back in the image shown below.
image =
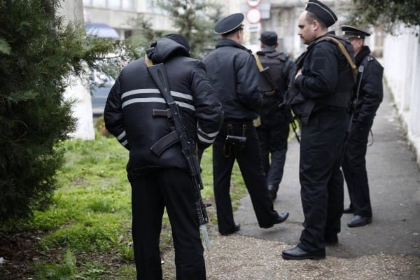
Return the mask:
<path id="1" fill-rule="evenodd" d="M 181 151 L 188 162 L 188 168 L 191 172 L 191 179 L 193 179 L 193 184 L 195 187 L 195 194 L 197 196 L 197 201 L 195 202 L 195 209 L 197 211 L 198 222 L 202 230 L 204 244 L 206 245 L 207 250 L 210 251 L 209 235 L 207 234 L 206 228 L 206 223 L 209 223 L 209 216 L 207 216 L 206 211 L 206 207 L 208 205 L 204 204 L 200 193 L 200 191 L 204 187 L 200 174 L 200 163 L 197 158 L 197 151 L 195 149 L 195 145 L 191 143 L 188 139 L 188 134 L 186 130 L 185 121 L 183 120 L 182 112 L 179 110 L 179 106 L 178 104 L 176 104 L 174 97 L 172 97 L 171 91 L 169 90 L 169 81 L 167 78 L 165 65 L 163 63 L 153 65 L 151 63 L 151 60 L 148 59 L 147 56 L 145 57 L 145 59 L 146 65 L 148 65 L 147 71 L 155 81 L 155 84 L 158 86 L 158 89 L 162 93 L 163 98 L 167 102 L 169 106 L 169 111 L 171 113 L 170 116 L 174 120 L 175 131 L 176 134 L 178 134 L 179 143 L 181 144 Z"/>

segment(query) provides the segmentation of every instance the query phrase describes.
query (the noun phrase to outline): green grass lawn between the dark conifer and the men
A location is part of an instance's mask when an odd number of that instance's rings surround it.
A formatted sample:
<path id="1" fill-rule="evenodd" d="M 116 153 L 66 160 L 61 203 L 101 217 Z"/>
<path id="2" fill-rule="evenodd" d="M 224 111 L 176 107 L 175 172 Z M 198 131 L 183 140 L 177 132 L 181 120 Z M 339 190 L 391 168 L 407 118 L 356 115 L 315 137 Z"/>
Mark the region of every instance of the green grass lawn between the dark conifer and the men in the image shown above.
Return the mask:
<path id="1" fill-rule="evenodd" d="M 97 135 L 94 141 L 64 141 L 66 164 L 57 172 L 59 186 L 53 204 L 35 211 L 17 230 L 33 232 L 35 279 L 134 279 L 131 236 L 131 188 L 125 166 L 128 152 L 116 139 Z M 202 158 L 204 202 L 214 204 L 211 148 Z M 246 193 L 239 168 L 232 172 L 234 208 Z M 216 207 L 209 217 L 217 222 Z M 34 237 L 35 238 L 35 237 Z M 172 249 L 172 233 L 165 213 L 161 250 Z"/>

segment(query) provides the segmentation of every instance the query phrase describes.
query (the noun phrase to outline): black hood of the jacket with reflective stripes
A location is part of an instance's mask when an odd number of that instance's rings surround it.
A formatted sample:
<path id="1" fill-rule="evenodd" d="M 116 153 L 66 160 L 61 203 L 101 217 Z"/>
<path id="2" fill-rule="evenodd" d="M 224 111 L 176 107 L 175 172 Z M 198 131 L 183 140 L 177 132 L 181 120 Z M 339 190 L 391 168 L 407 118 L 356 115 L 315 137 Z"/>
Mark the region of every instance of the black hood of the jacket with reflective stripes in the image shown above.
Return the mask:
<path id="1" fill-rule="evenodd" d="M 167 62 L 174 57 L 190 57 L 187 48 L 169 38 L 160 38 L 146 50 L 147 56 L 154 64 Z"/>

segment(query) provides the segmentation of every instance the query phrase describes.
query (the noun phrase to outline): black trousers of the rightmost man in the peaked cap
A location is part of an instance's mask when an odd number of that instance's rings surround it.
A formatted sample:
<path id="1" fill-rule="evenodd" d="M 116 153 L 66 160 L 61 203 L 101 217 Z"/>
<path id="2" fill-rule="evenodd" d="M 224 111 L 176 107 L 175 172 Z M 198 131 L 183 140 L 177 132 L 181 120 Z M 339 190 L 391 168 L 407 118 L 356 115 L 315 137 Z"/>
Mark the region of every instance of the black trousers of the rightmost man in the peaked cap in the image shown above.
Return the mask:
<path id="1" fill-rule="evenodd" d="M 367 138 L 373 120 L 366 125 L 354 122 L 351 126 L 342 162 L 344 179 L 349 190 L 350 207 L 354 214 L 372 218 L 369 183 L 366 171 Z"/>

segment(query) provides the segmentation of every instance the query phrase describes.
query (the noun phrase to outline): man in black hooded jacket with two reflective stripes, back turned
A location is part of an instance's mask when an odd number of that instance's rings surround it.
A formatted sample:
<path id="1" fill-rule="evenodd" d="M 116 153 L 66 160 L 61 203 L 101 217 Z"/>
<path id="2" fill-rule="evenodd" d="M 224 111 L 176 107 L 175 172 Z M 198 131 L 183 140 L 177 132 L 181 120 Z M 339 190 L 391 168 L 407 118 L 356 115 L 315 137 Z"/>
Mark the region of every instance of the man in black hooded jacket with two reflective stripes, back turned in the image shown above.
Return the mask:
<path id="1" fill-rule="evenodd" d="M 181 108 L 188 138 L 200 150 L 215 139 L 223 109 L 207 79 L 204 64 L 191 59 L 189 45 L 169 34 L 151 45 L 148 59 L 165 63 L 171 95 Z M 146 69 L 145 59 L 125 66 L 106 101 L 106 129 L 130 151 L 127 164 L 132 186 L 132 236 L 137 279 L 162 279 L 159 238 L 166 207 L 172 227 L 176 279 L 206 279 L 203 246 L 190 169 L 179 143 L 161 155 L 151 147 L 174 131 L 165 99 Z"/>

